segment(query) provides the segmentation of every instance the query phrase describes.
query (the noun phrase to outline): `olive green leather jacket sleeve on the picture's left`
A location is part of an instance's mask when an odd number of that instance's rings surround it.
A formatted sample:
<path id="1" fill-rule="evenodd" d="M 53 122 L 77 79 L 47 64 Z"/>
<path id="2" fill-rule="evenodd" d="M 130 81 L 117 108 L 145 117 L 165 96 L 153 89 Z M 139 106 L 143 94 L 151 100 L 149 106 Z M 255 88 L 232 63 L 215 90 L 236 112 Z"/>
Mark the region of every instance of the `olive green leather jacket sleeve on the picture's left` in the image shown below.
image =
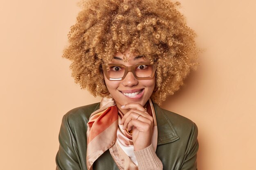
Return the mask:
<path id="1" fill-rule="evenodd" d="M 56 155 L 56 170 L 81 170 L 74 135 L 64 115 L 59 132 L 59 149 Z"/>

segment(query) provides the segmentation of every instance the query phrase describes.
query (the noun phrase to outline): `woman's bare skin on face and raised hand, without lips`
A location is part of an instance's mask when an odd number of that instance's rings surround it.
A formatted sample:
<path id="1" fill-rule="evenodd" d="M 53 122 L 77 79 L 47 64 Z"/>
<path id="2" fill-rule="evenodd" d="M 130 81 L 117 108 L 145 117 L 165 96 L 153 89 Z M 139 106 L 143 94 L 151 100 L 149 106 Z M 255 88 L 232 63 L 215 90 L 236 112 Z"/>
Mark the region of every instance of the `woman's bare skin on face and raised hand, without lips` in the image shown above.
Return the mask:
<path id="1" fill-rule="evenodd" d="M 130 57 L 128 62 L 124 62 L 124 54 Z M 137 63 L 147 62 L 143 57 L 130 54 L 129 50 L 126 50 L 124 54 L 117 52 L 110 63 L 121 63 L 126 66 L 132 66 Z M 118 109 L 124 114 L 120 124 L 124 124 L 123 129 L 132 129 L 134 150 L 141 150 L 150 146 L 153 132 L 153 118 L 145 111 L 143 106 L 153 93 L 155 76 L 148 80 L 137 80 L 132 72 L 128 72 L 124 80 L 121 81 L 110 81 L 106 78 L 105 74 L 104 78 L 108 91 L 114 98 Z M 140 98 L 132 98 L 122 93 L 127 93 L 134 89 L 143 89 L 144 92 L 141 93 L 143 95 Z"/>

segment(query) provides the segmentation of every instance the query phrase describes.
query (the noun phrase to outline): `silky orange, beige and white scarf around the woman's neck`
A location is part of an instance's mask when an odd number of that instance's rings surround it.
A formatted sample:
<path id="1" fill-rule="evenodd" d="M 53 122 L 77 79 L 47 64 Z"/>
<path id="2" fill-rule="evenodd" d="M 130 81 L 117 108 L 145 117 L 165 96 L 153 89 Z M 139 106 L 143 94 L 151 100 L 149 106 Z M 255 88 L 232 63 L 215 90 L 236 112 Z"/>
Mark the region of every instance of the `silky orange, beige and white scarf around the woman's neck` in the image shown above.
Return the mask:
<path id="1" fill-rule="evenodd" d="M 153 117 L 152 145 L 157 147 L 157 122 L 151 100 L 147 102 L 147 112 Z M 123 114 L 112 98 L 103 98 L 100 108 L 94 111 L 88 121 L 86 164 L 92 170 L 94 161 L 109 149 L 120 170 L 138 170 L 134 154 L 132 135 L 122 129 Z"/>

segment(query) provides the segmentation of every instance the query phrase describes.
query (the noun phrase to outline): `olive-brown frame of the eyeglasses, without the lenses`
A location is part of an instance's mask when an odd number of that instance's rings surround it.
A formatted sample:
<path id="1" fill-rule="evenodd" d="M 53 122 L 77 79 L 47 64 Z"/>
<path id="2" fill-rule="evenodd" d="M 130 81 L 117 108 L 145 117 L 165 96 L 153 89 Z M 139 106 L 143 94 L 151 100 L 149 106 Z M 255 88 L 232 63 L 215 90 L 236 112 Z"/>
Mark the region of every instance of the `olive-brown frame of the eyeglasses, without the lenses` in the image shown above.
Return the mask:
<path id="1" fill-rule="evenodd" d="M 138 77 L 135 74 L 135 69 L 139 66 L 139 65 L 152 65 L 152 74 L 148 77 Z M 124 76 L 122 76 L 121 78 L 110 78 L 110 76 L 108 76 L 108 67 L 111 66 L 120 66 L 124 68 Z M 155 75 L 155 70 L 156 70 L 156 63 L 151 64 L 150 62 L 144 62 L 144 63 L 137 63 L 135 65 L 132 66 L 126 66 L 123 64 L 119 64 L 119 63 L 109 63 L 109 64 L 102 64 L 102 69 L 103 72 L 105 73 L 106 78 L 108 78 L 108 80 L 111 81 L 120 81 L 120 80 L 124 80 L 124 78 L 126 77 L 128 72 L 132 72 L 133 76 L 137 79 L 137 80 L 148 80 L 153 78 L 153 76 Z"/>

